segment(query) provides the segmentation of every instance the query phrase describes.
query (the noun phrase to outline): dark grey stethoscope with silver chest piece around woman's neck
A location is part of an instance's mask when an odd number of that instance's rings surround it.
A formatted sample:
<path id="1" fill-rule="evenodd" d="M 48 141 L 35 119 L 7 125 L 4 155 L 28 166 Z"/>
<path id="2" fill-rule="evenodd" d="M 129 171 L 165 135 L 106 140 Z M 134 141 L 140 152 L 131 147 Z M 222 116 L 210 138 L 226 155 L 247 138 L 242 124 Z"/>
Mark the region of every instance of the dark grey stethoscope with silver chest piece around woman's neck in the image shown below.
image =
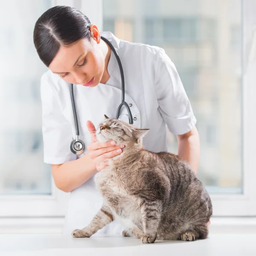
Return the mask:
<path id="1" fill-rule="evenodd" d="M 116 119 L 119 119 L 120 111 L 123 105 L 125 105 L 128 115 L 129 115 L 129 123 L 132 125 L 133 124 L 133 119 L 132 119 L 132 114 L 131 110 L 128 106 L 128 104 L 125 102 L 125 77 L 124 77 L 124 71 L 122 69 L 122 63 L 120 61 L 120 58 L 116 52 L 116 49 L 113 47 L 110 41 L 108 39 L 104 38 L 103 36 L 100 37 L 103 41 L 105 41 L 112 49 L 114 55 L 116 56 L 116 60 L 119 65 L 120 69 L 120 74 L 121 74 L 121 81 L 122 81 L 122 102 L 117 108 L 116 111 Z M 71 94 L 71 102 L 72 102 L 72 107 L 73 107 L 73 115 L 75 119 L 75 125 L 76 125 L 76 139 L 72 140 L 70 143 L 70 150 L 76 154 L 80 155 L 84 152 L 84 142 L 79 139 L 79 126 L 78 126 L 78 121 L 77 121 L 77 114 L 76 114 L 76 105 L 75 105 L 75 99 L 74 99 L 74 91 L 73 91 L 73 84 L 70 84 L 70 94 Z"/>

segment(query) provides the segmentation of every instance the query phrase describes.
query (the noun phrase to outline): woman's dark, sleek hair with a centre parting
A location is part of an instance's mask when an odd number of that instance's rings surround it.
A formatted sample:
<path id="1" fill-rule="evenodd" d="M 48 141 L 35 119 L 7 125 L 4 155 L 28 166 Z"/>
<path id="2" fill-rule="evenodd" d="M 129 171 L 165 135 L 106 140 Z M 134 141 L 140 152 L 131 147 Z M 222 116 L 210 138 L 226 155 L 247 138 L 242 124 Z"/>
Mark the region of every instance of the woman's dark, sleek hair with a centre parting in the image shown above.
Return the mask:
<path id="1" fill-rule="evenodd" d="M 35 23 L 34 44 L 41 61 L 49 67 L 61 45 L 91 39 L 90 20 L 70 6 L 55 6 L 44 12 Z"/>

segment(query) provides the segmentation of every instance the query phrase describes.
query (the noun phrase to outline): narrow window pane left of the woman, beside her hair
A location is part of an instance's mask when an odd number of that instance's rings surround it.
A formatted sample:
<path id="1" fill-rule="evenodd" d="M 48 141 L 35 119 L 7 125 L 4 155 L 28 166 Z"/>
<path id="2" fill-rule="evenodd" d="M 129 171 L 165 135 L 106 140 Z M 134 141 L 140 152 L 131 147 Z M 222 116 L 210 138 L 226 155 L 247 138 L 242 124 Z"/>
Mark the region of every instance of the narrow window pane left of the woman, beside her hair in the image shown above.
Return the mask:
<path id="1" fill-rule="evenodd" d="M 0 195 L 50 194 L 40 99 L 40 78 L 47 68 L 36 53 L 33 29 L 51 1 L 9 0 L 0 5 Z"/>

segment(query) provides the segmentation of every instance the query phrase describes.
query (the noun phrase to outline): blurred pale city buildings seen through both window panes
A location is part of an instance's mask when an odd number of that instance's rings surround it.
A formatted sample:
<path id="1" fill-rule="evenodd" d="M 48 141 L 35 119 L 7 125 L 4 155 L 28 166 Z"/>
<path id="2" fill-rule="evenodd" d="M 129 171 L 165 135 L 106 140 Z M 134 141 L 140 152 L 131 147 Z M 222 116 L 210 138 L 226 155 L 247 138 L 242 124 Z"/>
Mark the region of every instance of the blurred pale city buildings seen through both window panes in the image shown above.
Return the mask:
<path id="1" fill-rule="evenodd" d="M 162 47 L 174 62 L 197 118 L 201 139 L 198 177 L 212 193 L 240 193 L 241 0 L 102 1 L 104 31 Z M 47 68 L 37 56 L 32 32 L 52 1 L 3 2 L 0 195 L 50 194 L 50 166 L 43 163 L 40 100 L 40 78 Z M 177 153 L 177 140 L 171 133 L 168 145 L 170 152 Z"/>

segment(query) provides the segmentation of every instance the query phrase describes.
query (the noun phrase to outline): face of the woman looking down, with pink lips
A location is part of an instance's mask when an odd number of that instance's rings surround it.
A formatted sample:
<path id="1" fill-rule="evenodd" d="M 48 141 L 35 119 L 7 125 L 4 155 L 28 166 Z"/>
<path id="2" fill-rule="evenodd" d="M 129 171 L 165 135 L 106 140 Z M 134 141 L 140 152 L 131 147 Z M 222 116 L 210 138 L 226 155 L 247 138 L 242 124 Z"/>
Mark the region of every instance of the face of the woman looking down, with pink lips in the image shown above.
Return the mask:
<path id="1" fill-rule="evenodd" d="M 94 87 L 102 79 L 105 57 L 99 47 L 98 37 L 81 39 L 75 44 L 61 46 L 49 69 L 72 84 Z"/>

